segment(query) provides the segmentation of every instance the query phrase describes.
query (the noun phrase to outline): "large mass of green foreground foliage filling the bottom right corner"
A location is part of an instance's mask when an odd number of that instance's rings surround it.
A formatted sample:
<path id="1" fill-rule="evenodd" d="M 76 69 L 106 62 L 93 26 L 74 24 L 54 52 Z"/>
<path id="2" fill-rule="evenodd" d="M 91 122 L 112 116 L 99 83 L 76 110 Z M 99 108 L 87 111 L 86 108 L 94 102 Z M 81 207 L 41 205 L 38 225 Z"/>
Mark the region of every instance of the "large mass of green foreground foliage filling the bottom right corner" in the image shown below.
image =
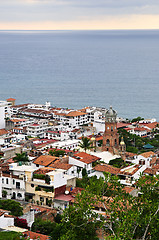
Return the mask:
<path id="1" fill-rule="evenodd" d="M 68 226 L 69 231 L 75 234 L 73 239 L 89 239 L 87 233 L 90 229 L 94 231 L 94 227 L 103 229 L 110 237 L 107 239 L 158 239 L 159 177 L 141 177 L 137 187 L 142 194 L 135 198 L 123 191 L 117 177 L 110 174 L 105 174 L 105 180 L 92 179 L 89 184 L 86 191 L 77 196 L 74 206 L 65 210 L 63 222 Z M 103 198 L 109 196 L 110 190 L 114 194 L 111 192 L 110 197 Z M 101 203 L 108 218 L 91 215 L 93 206 L 96 206 L 97 202 Z M 90 229 L 87 229 L 88 213 Z M 92 222 L 91 216 L 93 216 Z M 79 228 L 81 233 L 78 232 Z M 86 233 L 83 228 L 88 232 Z M 78 237 L 78 234 L 81 236 Z"/>

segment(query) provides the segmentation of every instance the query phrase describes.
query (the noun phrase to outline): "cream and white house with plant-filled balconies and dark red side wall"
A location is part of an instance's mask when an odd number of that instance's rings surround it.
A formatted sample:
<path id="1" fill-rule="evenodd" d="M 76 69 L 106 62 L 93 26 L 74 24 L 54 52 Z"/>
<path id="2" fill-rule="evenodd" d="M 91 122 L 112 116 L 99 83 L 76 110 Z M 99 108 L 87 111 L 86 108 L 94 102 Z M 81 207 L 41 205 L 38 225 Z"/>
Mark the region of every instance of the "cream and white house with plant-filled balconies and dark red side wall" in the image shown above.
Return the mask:
<path id="1" fill-rule="evenodd" d="M 26 171 L 27 198 L 37 204 L 51 206 L 54 197 L 66 190 L 67 178 L 64 172 L 51 167 Z"/>

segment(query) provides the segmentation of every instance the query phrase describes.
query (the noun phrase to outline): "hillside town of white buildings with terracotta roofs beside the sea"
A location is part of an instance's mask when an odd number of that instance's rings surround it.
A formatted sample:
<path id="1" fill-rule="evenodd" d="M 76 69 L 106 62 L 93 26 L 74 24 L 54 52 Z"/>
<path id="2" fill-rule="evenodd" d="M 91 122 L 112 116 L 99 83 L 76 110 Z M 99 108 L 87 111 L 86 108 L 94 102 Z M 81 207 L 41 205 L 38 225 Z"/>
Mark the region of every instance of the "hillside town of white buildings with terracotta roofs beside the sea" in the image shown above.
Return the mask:
<path id="1" fill-rule="evenodd" d="M 21 232 L 26 239 L 51 239 L 49 232 L 36 229 L 36 219 L 60 218 L 91 181 L 105 184 L 106 179 L 117 178 L 122 190 L 137 198 L 142 195 L 141 176 L 159 176 L 155 118 L 123 119 L 111 106 L 69 109 L 52 107 L 50 102 L 0 101 L 0 198 L 22 207 L 16 215 L 0 203 L 3 231 Z M 105 216 L 102 204 L 93 200 L 91 204 L 98 218 Z M 108 213 L 105 217 L 110 223 Z M 99 239 L 105 239 L 103 234 L 98 231 Z"/>

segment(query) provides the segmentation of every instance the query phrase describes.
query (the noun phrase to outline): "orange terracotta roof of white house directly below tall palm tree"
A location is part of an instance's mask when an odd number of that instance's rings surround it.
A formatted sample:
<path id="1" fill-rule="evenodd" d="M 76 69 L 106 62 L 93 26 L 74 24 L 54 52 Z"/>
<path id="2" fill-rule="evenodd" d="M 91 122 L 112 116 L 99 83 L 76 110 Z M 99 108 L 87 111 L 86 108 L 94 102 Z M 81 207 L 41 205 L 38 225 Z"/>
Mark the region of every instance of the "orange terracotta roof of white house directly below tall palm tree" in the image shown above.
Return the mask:
<path id="1" fill-rule="evenodd" d="M 76 153 L 76 154 L 74 154 L 73 158 L 77 159 L 78 161 L 84 162 L 86 164 L 96 162 L 97 160 L 101 159 L 99 157 L 90 155 L 90 154 L 85 153 L 85 152 Z"/>

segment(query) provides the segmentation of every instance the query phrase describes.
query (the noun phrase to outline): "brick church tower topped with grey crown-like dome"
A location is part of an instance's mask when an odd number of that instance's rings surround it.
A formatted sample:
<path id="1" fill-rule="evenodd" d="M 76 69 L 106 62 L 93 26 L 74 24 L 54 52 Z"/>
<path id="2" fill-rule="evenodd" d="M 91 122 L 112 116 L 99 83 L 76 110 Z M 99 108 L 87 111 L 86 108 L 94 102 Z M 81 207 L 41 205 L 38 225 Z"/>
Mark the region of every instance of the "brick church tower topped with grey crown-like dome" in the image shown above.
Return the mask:
<path id="1" fill-rule="evenodd" d="M 116 122 L 117 112 L 109 108 L 105 114 L 105 132 L 103 135 L 103 151 L 109 151 L 112 154 L 118 154 L 119 134 L 117 132 Z"/>

